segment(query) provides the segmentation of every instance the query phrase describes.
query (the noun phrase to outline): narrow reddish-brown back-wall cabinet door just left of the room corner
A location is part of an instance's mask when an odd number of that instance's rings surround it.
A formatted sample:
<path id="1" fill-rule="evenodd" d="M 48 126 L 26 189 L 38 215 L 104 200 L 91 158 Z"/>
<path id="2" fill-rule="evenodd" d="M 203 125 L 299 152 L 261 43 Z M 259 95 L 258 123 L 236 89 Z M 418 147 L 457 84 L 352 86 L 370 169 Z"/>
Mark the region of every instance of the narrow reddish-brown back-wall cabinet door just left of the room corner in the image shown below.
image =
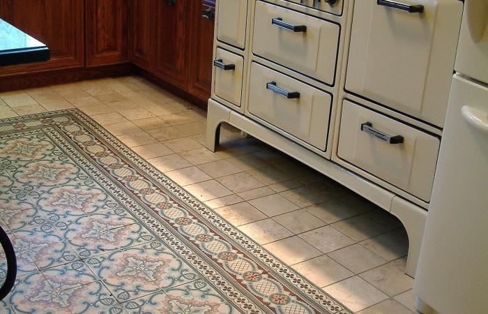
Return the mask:
<path id="1" fill-rule="evenodd" d="M 86 66 L 128 61 L 128 0 L 86 0 Z"/>

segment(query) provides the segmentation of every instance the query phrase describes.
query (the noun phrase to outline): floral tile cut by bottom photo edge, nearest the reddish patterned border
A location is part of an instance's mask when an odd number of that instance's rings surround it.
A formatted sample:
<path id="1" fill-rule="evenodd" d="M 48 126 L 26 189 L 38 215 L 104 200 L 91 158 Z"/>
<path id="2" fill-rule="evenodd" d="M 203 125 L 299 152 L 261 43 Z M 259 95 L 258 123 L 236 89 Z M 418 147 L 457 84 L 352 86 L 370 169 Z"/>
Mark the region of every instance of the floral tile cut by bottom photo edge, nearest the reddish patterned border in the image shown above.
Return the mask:
<path id="1" fill-rule="evenodd" d="M 239 313 L 205 281 L 171 288 L 124 304 L 130 314 L 145 313 Z"/>

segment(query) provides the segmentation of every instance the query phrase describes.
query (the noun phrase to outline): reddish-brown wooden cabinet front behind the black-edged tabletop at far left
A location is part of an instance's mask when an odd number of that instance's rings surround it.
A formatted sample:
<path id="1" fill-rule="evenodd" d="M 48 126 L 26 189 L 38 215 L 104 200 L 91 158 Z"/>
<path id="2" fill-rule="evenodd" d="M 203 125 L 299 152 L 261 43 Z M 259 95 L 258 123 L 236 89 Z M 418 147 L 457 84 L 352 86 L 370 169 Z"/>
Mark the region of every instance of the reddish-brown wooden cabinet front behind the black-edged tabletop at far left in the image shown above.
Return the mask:
<path id="1" fill-rule="evenodd" d="M 82 0 L 1 0 L 0 17 L 45 43 L 51 59 L 6 66 L 0 75 L 83 66 Z"/>

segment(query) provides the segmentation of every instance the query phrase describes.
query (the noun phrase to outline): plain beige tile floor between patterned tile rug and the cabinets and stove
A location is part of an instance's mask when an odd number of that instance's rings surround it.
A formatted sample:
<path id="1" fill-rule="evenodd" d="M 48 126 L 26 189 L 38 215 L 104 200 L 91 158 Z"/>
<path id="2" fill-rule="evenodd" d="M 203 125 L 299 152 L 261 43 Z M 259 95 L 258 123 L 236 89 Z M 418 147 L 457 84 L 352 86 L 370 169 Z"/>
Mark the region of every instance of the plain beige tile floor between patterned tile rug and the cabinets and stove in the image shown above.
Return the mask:
<path id="1" fill-rule="evenodd" d="M 77 107 L 310 281 L 360 314 L 412 313 L 397 218 L 141 77 L 0 94 L 0 118 Z"/>

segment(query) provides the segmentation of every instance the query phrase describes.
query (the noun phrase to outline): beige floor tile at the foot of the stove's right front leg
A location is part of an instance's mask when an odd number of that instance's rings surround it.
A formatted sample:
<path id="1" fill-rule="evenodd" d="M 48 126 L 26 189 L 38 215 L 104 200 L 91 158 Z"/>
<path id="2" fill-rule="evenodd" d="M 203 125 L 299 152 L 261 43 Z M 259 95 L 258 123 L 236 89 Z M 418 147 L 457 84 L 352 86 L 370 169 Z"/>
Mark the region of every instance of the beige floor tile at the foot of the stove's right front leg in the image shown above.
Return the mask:
<path id="1" fill-rule="evenodd" d="M 413 278 L 391 263 L 366 271 L 359 276 L 390 297 L 413 287 Z"/>

